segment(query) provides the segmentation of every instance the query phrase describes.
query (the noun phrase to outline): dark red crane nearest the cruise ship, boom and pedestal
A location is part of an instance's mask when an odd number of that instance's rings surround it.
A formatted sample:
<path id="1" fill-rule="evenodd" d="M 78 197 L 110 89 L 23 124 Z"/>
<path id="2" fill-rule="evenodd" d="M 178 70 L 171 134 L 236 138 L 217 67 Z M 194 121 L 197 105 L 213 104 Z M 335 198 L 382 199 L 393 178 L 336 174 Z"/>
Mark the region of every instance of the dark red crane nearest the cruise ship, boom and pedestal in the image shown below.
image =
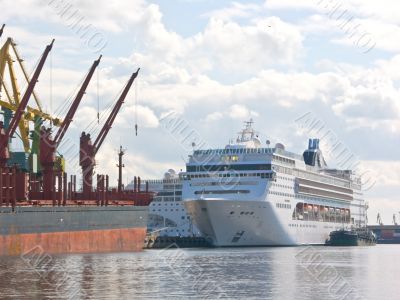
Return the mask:
<path id="1" fill-rule="evenodd" d="M 80 138 L 80 149 L 79 149 L 79 165 L 82 168 L 82 179 L 83 179 L 83 199 L 91 199 L 92 193 L 92 178 L 93 178 L 93 169 L 95 166 L 95 157 L 97 152 L 99 151 L 101 145 L 103 144 L 105 138 L 107 137 L 108 132 L 110 131 L 115 118 L 119 110 L 121 109 L 122 104 L 128 92 L 139 74 L 140 68 L 132 74 L 129 78 L 128 83 L 126 84 L 124 90 L 121 93 L 118 101 L 115 103 L 110 115 L 108 116 L 107 121 L 104 123 L 99 135 L 97 136 L 94 143 L 92 143 L 90 134 L 86 134 L 82 132 Z"/>

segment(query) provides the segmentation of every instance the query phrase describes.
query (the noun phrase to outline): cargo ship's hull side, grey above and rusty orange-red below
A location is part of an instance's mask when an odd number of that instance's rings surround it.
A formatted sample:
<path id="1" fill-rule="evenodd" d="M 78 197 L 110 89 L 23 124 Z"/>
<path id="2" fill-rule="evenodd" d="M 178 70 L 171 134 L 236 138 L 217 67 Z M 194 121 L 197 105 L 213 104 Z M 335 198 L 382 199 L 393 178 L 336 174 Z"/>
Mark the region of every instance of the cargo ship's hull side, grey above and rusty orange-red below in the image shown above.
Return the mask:
<path id="1" fill-rule="evenodd" d="M 0 256 L 140 251 L 147 206 L 0 208 Z"/>

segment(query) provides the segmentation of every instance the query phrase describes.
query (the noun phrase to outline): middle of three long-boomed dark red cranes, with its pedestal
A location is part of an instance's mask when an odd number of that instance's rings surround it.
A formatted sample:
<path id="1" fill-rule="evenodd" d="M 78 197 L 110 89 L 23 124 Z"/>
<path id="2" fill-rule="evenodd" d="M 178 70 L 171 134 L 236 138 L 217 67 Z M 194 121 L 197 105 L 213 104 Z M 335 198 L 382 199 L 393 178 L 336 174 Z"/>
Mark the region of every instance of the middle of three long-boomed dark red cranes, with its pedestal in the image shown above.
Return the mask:
<path id="1" fill-rule="evenodd" d="M 60 145 L 65 133 L 68 130 L 69 125 L 72 122 L 72 119 L 75 115 L 75 112 L 81 102 L 83 95 L 92 79 L 92 76 L 99 65 L 101 60 L 101 55 L 98 60 L 96 60 L 92 67 L 89 70 L 81 88 L 79 89 L 74 101 L 72 102 L 71 107 L 68 110 L 67 115 L 60 128 L 57 131 L 54 139 L 51 136 L 51 130 L 49 128 L 42 127 L 40 130 L 40 164 L 42 165 L 42 175 L 43 175 L 43 197 L 47 200 L 54 200 L 54 185 L 55 185 L 55 176 L 54 176 L 54 165 L 56 162 L 56 150 Z"/>

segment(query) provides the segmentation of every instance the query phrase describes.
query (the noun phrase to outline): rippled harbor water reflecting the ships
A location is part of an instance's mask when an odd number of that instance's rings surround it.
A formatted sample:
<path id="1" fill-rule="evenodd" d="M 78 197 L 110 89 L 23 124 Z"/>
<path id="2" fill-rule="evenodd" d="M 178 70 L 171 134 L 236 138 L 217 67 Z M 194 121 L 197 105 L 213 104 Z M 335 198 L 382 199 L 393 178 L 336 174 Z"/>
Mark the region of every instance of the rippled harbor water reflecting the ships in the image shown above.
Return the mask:
<path id="1" fill-rule="evenodd" d="M 0 258 L 1 299 L 399 299 L 400 245 Z"/>

